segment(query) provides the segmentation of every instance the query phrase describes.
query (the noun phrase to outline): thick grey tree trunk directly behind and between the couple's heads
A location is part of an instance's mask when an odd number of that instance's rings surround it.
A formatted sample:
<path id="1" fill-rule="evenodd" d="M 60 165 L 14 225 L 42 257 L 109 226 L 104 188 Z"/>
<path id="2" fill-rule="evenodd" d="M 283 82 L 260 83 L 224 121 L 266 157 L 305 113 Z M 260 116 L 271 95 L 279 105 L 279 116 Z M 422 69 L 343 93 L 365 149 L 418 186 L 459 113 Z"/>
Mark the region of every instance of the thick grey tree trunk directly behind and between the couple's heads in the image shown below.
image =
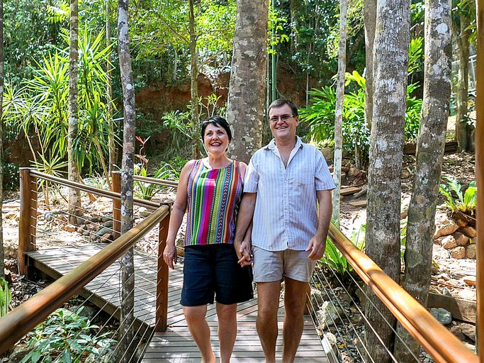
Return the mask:
<path id="1" fill-rule="evenodd" d="M 237 0 L 227 121 L 234 130 L 230 155 L 243 162 L 262 144 L 268 9 L 267 0 Z"/>

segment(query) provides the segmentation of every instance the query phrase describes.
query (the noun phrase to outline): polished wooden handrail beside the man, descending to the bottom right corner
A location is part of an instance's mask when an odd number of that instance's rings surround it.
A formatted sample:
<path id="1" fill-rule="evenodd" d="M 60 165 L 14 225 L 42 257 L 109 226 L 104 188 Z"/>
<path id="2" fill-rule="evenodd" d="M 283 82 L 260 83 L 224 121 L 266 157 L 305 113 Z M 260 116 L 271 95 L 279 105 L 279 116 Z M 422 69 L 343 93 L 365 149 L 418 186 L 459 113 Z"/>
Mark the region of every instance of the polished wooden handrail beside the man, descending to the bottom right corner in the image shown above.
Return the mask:
<path id="1" fill-rule="evenodd" d="M 361 252 L 333 224 L 328 232 L 334 245 L 347 258 L 359 277 L 415 337 L 435 362 L 470 363 L 478 357 L 444 328 L 415 298 L 391 279 L 373 260 Z"/>

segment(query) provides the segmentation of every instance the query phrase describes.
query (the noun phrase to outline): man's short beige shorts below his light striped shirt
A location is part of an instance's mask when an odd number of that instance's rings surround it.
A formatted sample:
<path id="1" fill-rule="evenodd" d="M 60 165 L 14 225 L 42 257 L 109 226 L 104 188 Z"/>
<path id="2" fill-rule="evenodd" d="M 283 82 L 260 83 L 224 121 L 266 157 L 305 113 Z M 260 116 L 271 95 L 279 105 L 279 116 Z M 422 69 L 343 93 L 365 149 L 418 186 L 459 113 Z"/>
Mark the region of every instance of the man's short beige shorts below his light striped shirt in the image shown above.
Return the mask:
<path id="1" fill-rule="evenodd" d="M 309 251 L 267 251 L 252 246 L 254 255 L 254 281 L 274 282 L 288 277 L 296 281 L 309 282 L 316 261 L 308 259 Z"/>

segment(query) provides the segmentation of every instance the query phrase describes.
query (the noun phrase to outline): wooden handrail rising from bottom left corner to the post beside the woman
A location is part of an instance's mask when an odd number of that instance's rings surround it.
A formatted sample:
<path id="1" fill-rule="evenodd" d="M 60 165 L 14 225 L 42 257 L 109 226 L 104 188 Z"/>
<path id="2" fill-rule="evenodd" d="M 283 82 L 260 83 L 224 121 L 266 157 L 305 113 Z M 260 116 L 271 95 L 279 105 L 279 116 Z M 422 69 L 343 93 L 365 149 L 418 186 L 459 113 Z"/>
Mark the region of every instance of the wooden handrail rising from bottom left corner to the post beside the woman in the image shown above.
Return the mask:
<path id="1" fill-rule="evenodd" d="M 35 174 L 38 176 L 37 173 Z M 21 337 L 43 322 L 56 308 L 77 294 L 89 281 L 101 274 L 167 216 L 169 216 L 169 206 L 160 206 L 145 220 L 96 255 L 0 318 L 0 354 L 6 352 Z"/>

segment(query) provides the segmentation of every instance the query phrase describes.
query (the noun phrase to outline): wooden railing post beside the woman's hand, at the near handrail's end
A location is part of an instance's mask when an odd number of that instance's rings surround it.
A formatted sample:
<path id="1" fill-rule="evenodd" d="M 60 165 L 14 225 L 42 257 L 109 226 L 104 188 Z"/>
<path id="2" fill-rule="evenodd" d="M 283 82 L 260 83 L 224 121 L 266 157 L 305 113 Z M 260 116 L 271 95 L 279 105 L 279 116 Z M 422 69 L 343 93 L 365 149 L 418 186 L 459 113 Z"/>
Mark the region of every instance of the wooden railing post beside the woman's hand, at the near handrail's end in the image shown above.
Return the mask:
<path id="1" fill-rule="evenodd" d="M 171 206 L 169 209 L 171 213 Z M 164 263 L 163 251 L 167 246 L 169 220 L 170 214 L 159 223 L 155 332 L 167 330 L 168 323 L 168 265 Z"/>

